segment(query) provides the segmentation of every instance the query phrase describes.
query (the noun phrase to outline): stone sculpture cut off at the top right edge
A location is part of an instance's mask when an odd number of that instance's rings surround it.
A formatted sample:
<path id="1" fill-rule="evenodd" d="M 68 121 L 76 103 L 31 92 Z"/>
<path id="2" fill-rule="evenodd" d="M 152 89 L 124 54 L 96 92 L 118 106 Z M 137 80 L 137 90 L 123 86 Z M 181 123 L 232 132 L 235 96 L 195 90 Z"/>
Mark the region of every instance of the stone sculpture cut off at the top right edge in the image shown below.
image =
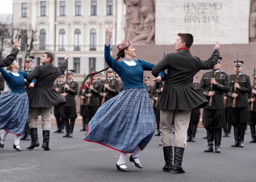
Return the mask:
<path id="1" fill-rule="evenodd" d="M 251 1 L 249 17 L 249 41 L 256 42 L 256 0 Z"/>

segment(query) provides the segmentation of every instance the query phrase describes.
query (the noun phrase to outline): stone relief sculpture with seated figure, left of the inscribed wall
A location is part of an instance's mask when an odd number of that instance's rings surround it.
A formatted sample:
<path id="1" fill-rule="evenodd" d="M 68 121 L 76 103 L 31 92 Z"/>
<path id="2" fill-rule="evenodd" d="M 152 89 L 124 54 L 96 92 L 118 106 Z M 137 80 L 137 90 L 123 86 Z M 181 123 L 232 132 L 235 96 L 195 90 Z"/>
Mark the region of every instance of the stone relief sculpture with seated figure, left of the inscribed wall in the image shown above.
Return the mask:
<path id="1" fill-rule="evenodd" d="M 154 44 L 156 0 L 123 0 L 126 5 L 125 40 Z"/>

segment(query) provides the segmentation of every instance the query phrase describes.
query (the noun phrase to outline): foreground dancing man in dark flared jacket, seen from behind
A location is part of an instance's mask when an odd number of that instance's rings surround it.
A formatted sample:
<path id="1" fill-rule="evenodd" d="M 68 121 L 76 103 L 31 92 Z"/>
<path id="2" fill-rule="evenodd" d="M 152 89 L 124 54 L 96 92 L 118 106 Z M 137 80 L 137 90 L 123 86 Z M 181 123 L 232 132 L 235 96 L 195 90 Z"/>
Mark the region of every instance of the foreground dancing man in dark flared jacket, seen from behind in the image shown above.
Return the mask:
<path id="1" fill-rule="evenodd" d="M 152 68 L 154 81 L 159 82 L 158 73 L 168 68 L 166 82 L 161 94 L 159 108 L 161 109 L 160 133 L 163 145 L 165 166 L 164 171 L 185 173 L 182 168 L 182 158 L 187 145 L 187 129 L 189 127 L 192 109 L 205 107 L 208 101 L 195 90 L 193 77 L 200 70 L 209 70 L 219 59 L 220 43 L 215 44 L 215 50 L 206 60 L 193 56 L 189 48 L 194 37 L 191 34 L 178 34 L 175 42 L 177 53 L 167 54 Z M 172 143 L 172 120 L 175 122 L 174 165 Z"/>

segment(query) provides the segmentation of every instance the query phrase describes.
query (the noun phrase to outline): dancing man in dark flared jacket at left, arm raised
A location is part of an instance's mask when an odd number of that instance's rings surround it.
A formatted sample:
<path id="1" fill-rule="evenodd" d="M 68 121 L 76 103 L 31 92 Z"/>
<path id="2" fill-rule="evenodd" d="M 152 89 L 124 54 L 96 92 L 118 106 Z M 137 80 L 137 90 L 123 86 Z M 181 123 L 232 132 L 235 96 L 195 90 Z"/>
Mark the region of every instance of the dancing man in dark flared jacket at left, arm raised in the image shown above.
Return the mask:
<path id="1" fill-rule="evenodd" d="M 66 71 L 69 55 L 69 53 L 66 54 L 63 63 L 57 68 L 52 63 L 54 54 L 50 52 L 43 53 L 41 57 L 42 65 L 36 66 L 27 77 L 28 82 L 36 78 L 36 85 L 28 95 L 28 126 L 31 134 L 31 145 L 27 149 L 39 146 L 36 122 L 38 120 L 38 112 L 40 112 L 43 128 L 42 148 L 50 150 L 51 107 L 66 103 L 65 98 L 55 91 L 54 82 L 57 77 Z"/>

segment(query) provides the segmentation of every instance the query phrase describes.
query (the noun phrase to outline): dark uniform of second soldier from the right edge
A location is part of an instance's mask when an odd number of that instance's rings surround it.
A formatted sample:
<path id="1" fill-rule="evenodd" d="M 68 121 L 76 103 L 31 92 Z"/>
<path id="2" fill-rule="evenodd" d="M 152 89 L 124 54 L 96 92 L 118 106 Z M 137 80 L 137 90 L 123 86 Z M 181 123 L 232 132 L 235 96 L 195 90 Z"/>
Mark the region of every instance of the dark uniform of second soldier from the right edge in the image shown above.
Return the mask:
<path id="1" fill-rule="evenodd" d="M 235 66 L 236 66 L 236 62 Z M 239 66 L 242 66 L 244 61 L 239 61 Z M 230 92 L 228 92 L 228 96 L 230 97 L 228 100 L 228 121 L 234 127 L 234 135 L 235 135 L 235 143 L 232 147 L 244 147 L 244 131 L 246 122 L 249 121 L 249 109 L 248 109 L 248 100 L 246 97 L 246 93 L 251 94 L 251 83 L 250 77 L 248 75 L 244 75 L 242 72 L 238 73 L 238 84 L 240 86 L 237 89 L 237 99 L 236 99 L 236 107 L 232 107 L 234 98 L 232 95 L 235 93 L 235 76 L 236 74 L 229 75 L 230 82 Z"/>

